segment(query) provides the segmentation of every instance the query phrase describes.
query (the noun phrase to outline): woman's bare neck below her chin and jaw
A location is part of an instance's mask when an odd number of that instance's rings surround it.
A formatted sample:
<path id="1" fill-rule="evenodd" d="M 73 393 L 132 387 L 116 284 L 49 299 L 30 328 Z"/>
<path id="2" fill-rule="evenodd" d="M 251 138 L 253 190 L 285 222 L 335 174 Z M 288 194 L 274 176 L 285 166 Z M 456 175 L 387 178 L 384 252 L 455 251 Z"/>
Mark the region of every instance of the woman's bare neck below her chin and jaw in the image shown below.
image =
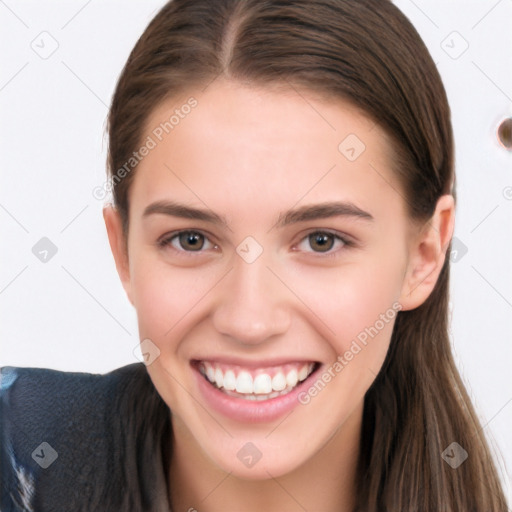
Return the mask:
<path id="1" fill-rule="evenodd" d="M 352 512 L 362 424 L 362 404 L 309 460 L 274 478 L 237 478 L 213 464 L 173 417 L 169 472 L 173 512 L 243 510 Z"/>

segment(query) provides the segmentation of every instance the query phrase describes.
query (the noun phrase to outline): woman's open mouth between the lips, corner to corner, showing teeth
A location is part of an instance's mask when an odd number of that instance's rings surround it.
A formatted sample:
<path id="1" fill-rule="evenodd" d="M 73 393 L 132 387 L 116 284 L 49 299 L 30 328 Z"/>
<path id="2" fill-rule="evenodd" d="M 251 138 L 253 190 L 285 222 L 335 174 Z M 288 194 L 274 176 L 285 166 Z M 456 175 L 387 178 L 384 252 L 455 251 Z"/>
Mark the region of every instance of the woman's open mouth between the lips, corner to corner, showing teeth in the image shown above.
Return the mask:
<path id="1" fill-rule="evenodd" d="M 204 379 L 221 393 L 249 401 L 271 400 L 291 393 L 319 365 L 316 361 L 301 361 L 249 368 L 217 361 L 193 361 Z"/>

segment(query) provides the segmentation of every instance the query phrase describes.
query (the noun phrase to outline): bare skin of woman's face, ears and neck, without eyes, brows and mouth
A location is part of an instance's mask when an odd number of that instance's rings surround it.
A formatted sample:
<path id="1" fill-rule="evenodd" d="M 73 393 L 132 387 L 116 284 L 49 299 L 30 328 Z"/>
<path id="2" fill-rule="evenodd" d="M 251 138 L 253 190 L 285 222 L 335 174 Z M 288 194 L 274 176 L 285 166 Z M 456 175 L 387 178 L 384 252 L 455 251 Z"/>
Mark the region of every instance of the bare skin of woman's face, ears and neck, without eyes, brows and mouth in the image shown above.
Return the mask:
<path id="1" fill-rule="evenodd" d="M 439 199 L 429 223 L 412 223 L 388 139 L 347 103 L 226 80 L 194 97 L 198 106 L 137 167 L 127 252 L 118 212 L 104 208 L 140 339 L 160 350 L 147 369 L 173 412 L 173 510 L 349 511 L 364 395 L 394 320 L 310 403 L 270 423 L 236 422 L 212 410 L 190 361 L 228 354 L 330 367 L 393 303 L 414 309 L 429 296 L 453 234 L 453 198 Z M 143 137 L 183 102 L 175 98 L 152 112 Z M 366 146 L 353 162 L 338 150 L 351 133 Z M 143 218 L 157 200 L 215 212 L 227 225 Z M 333 201 L 350 202 L 373 220 L 276 225 L 286 210 Z M 176 238 L 174 246 L 158 246 L 163 235 L 183 229 L 204 233 L 211 244 L 192 254 Z M 318 252 L 308 238 L 315 230 L 337 232 L 353 245 L 337 240 Z M 263 248 L 252 263 L 236 252 L 247 236 Z M 251 468 L 237 458 L 249 441 L 262 453 Z"/>

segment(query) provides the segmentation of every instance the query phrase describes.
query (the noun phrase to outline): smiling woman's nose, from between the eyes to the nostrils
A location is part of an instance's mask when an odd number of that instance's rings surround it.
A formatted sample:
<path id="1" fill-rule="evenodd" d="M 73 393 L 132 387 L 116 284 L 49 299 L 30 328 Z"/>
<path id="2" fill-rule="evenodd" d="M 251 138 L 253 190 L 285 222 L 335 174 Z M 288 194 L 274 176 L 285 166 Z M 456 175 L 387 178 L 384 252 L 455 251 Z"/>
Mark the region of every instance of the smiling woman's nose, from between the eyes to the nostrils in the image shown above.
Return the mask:
<path id="1" fill-rule="evenodd" d="M 290 327 L 290 299 L 264 258 L 234 265 L 219 287 L 213 324 L 224 336 L 245 345 L 264 343 Z"/>

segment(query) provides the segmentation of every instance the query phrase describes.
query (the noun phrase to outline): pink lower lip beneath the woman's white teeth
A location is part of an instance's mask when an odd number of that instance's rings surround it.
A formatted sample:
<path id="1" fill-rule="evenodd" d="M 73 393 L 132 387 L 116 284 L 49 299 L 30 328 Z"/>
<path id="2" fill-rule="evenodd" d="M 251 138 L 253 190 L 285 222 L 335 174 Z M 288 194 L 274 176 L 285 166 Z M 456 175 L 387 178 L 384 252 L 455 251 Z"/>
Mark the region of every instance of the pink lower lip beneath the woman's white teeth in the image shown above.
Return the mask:
<path id="1" fill-rule="evenodd" d="M 318 371 L 317 369 L 317 371 L 311 373 L 306 380 L 302 381 L 286 395 L 256 401 L 226 395 L 226 393 L 220 391 L 213 384 L 210 384 L 195 366 L 192 368 L 196 374 L 199 390 L 211 408 L 232 420 L 246 423 L 274 421 L 292 411 L 300 405 L 298 400 L 299 393 L 309 386 L 310 377 Z"/>

